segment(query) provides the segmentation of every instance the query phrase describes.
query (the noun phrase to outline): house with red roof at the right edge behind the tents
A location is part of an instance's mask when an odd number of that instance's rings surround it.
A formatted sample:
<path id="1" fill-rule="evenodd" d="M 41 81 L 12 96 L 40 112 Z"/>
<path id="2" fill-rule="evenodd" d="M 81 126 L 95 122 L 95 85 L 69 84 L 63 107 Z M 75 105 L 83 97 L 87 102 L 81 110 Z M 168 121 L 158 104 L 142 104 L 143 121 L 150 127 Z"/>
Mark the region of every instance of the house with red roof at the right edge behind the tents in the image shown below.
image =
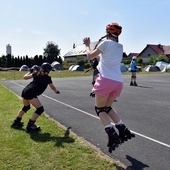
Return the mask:
<path id="1" fill-rule="evenodd" d="M 147 44 L 142 52 L 138 54 L 143 59 L 143 63 L 149 63 L 152 56 L 157 57 L 158 55 L 166 55 L 170 59 L 170 46 Z"/>

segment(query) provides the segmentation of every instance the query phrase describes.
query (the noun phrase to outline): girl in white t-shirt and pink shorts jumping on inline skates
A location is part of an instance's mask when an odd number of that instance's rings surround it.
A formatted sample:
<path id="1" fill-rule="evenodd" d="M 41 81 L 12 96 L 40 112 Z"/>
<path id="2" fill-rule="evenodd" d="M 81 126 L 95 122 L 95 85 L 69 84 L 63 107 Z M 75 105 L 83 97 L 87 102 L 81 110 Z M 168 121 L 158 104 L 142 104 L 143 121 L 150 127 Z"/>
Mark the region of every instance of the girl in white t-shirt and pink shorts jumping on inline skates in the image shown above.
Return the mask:
<path id="1" fill-rule="evenodd" d="M 110 153 L 112 150 L 115 150 L 119 144 L 135 137 L 123 124 L 116 110 L 111 107 L 123 88 L 123 77 L 120 70 L 123 46 L 118 42 L 121 31 L 122 27 L 119 24 L 108 24 L 106 26 L 106 35 L 99 40 L 100 43 L 95 50 L 90 49 L 91 42 L 89 37 L 83 39 L 89 60 L 100 55 L 99 64 L 97 65 L 99 73 L 92 91 L 95 93 L 95 111 L 108 134 L 107 146 L 109 147 Z M 106 39 L 101 41 L 104 38 Z M 112 125 L 110 118 L 115 123 L 119 135 Z"/>

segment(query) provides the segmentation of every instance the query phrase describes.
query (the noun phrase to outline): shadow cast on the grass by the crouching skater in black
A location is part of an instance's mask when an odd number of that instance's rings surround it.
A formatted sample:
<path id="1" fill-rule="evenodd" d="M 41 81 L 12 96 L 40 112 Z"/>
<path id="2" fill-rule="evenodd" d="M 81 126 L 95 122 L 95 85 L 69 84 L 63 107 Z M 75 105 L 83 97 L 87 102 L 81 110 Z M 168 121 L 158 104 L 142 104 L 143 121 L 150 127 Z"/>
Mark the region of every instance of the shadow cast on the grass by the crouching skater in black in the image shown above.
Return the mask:
<path id="1" fill-rule="evenodd" d="M 64 147 L 63 143 L 75 142 L 75 139 L 69 137 L 70 134 L 69 129 L 70 128 L 67 128 L 63 137 L 51 136 L 50 133 L 41 133 L 41 131 L 36 131 L 36 132 L 34 131 L 34 132 L 30 132 L 29 134 L 30 134 L 30 138 L 36 142 L 53 141 L 55 142 L 55 146 Z"/>

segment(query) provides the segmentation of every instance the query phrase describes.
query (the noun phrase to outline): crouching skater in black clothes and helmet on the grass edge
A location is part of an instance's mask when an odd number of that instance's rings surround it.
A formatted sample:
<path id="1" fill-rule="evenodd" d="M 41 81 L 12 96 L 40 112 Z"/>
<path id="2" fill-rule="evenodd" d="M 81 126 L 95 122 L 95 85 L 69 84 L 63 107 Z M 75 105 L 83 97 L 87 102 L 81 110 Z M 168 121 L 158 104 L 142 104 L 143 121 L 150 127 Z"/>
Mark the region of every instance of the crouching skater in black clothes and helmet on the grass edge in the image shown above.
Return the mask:
<path id="1" fill-rule="evenodd" d="M 13 121 L 11 127 L 20 128 L 24 125 L 21 122 L 23 115 L 30 109 L 30 104 L 36 108 L 35 112 L 33 113 L 31 119 L 28 121 L 26 130 L 27 132 L 40 130 L 40 126 L 35 124 L 37 118 L 44 112 L 44 107 L 42 106 L 38 96 L 41 95 L 49 85 L 50 88 L 55 93 L 60 93 L 56 87 L 53 85 L 51 77 L 48 75 L 52 67 L 49 63 L 43 63 L 41 67 L 35 65 L 30 69 L 30 72 L 24 75 L 24 79 L 28 80 L 33 78 L 31 81 L 22 91 L 22 98 L 23 98 L 23 108 L 19 110 L 16 119 Z"/>

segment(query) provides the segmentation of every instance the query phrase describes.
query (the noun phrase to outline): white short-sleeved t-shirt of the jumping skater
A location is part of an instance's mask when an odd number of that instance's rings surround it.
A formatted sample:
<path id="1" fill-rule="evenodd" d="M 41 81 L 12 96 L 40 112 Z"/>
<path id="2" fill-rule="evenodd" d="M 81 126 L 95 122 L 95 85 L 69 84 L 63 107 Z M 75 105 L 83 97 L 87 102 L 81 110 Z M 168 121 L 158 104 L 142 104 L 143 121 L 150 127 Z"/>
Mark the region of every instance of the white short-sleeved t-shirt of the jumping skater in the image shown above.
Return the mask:
<path id="1" fill-rule="evenodd" d="M 123 58 L 123 45 L 112 40 L 104 40 L 98 46 L 101 53 L 97 66 L 102 77 L 123 82 L 120 64 Z"/>

